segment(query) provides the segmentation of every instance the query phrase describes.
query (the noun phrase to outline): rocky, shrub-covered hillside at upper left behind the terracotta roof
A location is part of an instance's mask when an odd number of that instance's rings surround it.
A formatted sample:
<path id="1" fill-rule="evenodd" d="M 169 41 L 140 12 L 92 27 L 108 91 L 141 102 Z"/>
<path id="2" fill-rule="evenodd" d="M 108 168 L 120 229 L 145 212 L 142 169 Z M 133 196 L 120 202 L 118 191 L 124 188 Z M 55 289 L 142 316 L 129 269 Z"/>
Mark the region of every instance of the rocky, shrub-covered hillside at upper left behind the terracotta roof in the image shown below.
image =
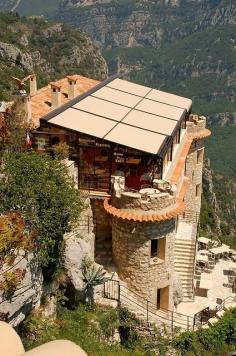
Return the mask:
<path id="1" fill-rule="evenodd" d="M 10 99 L 10 76 L 35 72 L 39 84 L 77 73 L 105 79 L 107 65 L 85 33 L 60 23 L 0 14 L 0 100 Z"/>

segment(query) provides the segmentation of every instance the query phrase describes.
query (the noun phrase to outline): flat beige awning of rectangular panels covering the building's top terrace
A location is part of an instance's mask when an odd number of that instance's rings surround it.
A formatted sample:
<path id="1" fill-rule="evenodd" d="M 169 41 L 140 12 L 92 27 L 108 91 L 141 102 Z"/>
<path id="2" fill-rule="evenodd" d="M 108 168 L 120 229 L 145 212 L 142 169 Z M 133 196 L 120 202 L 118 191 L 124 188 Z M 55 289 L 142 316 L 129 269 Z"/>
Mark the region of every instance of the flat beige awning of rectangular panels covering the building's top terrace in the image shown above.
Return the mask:
<path id="1" fill-rule="evenodd" d="M 45 119 L 59 127 L 158 154 L 191 103 L 187 98 L 114 79 Z"/>

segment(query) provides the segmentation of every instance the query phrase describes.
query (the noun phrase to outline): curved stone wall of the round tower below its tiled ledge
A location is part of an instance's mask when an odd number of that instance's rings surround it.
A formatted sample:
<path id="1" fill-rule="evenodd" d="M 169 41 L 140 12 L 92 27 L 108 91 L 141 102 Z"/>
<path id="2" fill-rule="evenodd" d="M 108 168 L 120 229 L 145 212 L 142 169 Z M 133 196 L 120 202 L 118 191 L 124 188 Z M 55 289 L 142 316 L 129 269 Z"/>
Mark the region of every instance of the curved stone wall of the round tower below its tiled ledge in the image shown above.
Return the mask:
<path id="1" fill-rule="evenodd" d="M 156 304 L 157 289 L 169 286 L 173 307 L 173 242 L 175 220 L 137 223 L 113 218 L 112 253 L 118 274 L 143 298 Z M 166 239 L 165 261 L 151 259 L 152 239 Z"/>

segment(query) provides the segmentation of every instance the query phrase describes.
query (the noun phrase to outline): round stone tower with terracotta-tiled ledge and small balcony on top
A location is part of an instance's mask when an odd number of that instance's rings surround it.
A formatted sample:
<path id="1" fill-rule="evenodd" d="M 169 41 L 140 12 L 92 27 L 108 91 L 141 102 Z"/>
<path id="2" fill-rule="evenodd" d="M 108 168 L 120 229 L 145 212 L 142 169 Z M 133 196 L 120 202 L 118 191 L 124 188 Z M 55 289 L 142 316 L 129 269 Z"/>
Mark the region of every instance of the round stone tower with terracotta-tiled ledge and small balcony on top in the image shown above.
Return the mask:
<path id="1" fill-rule="evenodd" d="M 158 181 L 156 188 L 139 193 L 115 189 L 104 204 L 112 215 L 112 255 L 119 277 L 163 309 L 173 308 L 176 217 L 184 210 L 174 188 Z"/>

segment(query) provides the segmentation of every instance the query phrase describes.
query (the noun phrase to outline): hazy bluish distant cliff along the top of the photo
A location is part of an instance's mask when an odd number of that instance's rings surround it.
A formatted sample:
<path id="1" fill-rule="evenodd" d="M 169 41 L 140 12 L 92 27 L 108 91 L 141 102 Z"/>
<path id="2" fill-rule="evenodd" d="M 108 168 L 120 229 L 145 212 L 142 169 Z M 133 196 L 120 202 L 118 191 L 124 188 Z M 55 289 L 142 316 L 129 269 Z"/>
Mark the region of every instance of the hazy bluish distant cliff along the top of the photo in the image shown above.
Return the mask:
<path id="1" fill-rule="evenodd" d="M 57 17 L 89 33 L 103 48 L 173 42 L 210 27 L 235 24 L 232 1 L 73 1 Z M 91 18 L 93 21 L 91 21 Z"/>

